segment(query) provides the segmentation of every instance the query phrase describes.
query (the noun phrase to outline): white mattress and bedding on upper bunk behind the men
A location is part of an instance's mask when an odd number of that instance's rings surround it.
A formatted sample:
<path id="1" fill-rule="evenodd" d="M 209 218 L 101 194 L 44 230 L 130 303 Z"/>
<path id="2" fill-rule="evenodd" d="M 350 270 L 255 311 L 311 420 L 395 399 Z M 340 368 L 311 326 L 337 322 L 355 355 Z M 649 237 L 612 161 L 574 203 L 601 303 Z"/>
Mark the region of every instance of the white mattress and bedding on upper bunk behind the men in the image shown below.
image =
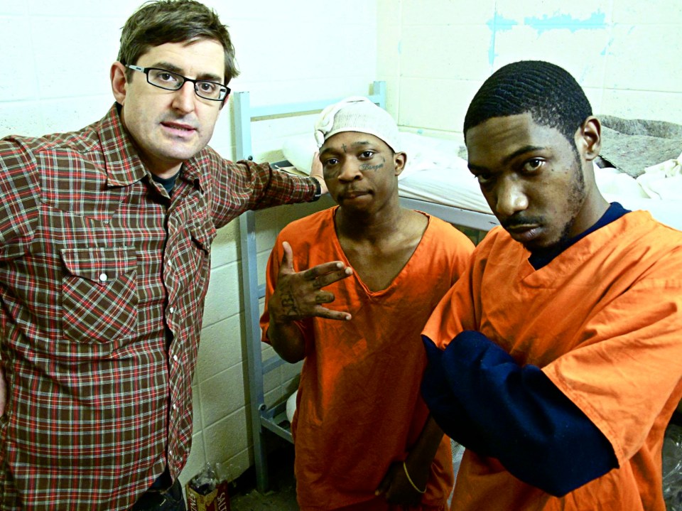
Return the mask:
<path id="1" fill-rule="evenodd" d="M 401 143 L 401 151 L 407 154 L 406 169 L 398 181 L 401 197 L 492 215 L 467 162 L 457 156 L 460 144 L 412 133 L 401 133 Z M 290 137 L 283 145 L 284 156 L 304 173 L 310 173 L 315 151 L 312 134 Z M 682 230 L 682 197 L 651 198 L 646 187 L 613 168 L 595 167 L 595 176 L 609 202 L 619 202 L 629 210 L 648 210 L 659 222 Z M 674 190 L 682 176 L 670 178 L 668 189 Z"/>

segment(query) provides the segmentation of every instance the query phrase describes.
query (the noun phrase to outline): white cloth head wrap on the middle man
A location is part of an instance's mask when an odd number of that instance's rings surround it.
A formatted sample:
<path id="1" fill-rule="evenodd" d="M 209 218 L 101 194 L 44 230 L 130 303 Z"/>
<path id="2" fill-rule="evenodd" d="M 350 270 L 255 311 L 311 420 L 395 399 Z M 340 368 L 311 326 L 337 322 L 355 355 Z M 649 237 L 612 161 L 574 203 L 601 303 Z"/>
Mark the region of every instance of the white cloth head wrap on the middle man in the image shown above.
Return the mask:
<path id="1" fill-rule="evenodd" d="M 369 133 L 399 152 L 398 125 L 389 112 L 362 96 L 352 96 L 330 104 L 315 121 L 315 141 L 322 147 L 330 136 L 341 131 Z"/>

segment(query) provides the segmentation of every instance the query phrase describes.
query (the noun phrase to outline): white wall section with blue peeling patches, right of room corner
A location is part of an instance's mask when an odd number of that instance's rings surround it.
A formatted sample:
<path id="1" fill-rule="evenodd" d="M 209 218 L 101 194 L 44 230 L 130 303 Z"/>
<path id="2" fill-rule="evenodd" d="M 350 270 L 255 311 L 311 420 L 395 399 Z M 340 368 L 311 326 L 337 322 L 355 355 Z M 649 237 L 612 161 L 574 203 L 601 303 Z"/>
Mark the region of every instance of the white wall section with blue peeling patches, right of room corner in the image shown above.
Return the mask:
<path id="1" fill-rule="evenodd" d="M 381 0 L 378 23 L 377 73 L 409 131 L 460 131 L 482 80 L 524 59 L 569 70 L 597 114 L 682 123 L 678 0 Z"/>

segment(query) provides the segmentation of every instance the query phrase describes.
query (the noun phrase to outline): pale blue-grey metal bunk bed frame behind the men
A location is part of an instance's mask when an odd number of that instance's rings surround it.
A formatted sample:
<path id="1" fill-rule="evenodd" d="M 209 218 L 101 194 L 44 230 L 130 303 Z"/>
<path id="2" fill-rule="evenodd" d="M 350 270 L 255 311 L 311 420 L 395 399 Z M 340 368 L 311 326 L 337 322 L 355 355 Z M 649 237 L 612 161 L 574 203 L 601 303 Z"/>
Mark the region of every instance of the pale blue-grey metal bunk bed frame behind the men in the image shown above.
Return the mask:
<path id="1" fill-rule="evenodd" d="M 370 100 L 386 108 L 386 82 L 377 81 L 372 85 Z M 251 123 L 272 117 L 290 117 L 293 115 L 318 112 L 337 99 L 320 99 L 311 102 L 274 104 L 270 106 L 251 106 L 249 92 L 235 92 L 233 97 L 235 141 L 237 145 L 237 161 L 253 159 L 251 146 Z M 443 220 L 476 230 L 488 231 L 497 225 L 493 215 L 477 213 L 470 210 L 428 203 L 423 200 L 401 198 L 406 208 L 421 210 Z M 264 376 L 281 366 L 284 362 L 278 355 L 262 360 L 261 328 L 259 324 L 259 300 L 265 296 L 265 285 L 258 284 L 256 218 L 253 211 L 247 211 L 239 217 L 240 254 L 242 257 L 242 306 L 246 323 L 247 371 L 249 380 L 249 407 L 251 412 L 251 429 L 254 441 L 254 458 L 256 468 L 256 489 L 265 493 L 268 489 L 268 466 L 266 436 L 276 435 L 293 442 L 291 431 L 281 424 L 286 421 L 286 400 L 268 407 L 264 396 Z"/>

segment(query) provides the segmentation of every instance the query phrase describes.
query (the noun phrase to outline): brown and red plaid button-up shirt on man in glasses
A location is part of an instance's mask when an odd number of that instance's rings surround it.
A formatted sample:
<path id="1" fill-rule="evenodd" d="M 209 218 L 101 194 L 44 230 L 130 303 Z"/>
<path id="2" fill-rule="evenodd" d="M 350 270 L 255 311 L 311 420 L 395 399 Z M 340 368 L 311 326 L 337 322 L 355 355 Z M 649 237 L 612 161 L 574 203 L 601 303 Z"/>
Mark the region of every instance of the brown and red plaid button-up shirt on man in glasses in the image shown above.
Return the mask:
<path id="1" fill-rule="evenodd" d="M 0 140 L 2 509 L 123 510 L 166 464 L 178 476 L 216 229 L 314 192 L 206 148 L 169 198 L 115 105 L 82 131 Z"/>

